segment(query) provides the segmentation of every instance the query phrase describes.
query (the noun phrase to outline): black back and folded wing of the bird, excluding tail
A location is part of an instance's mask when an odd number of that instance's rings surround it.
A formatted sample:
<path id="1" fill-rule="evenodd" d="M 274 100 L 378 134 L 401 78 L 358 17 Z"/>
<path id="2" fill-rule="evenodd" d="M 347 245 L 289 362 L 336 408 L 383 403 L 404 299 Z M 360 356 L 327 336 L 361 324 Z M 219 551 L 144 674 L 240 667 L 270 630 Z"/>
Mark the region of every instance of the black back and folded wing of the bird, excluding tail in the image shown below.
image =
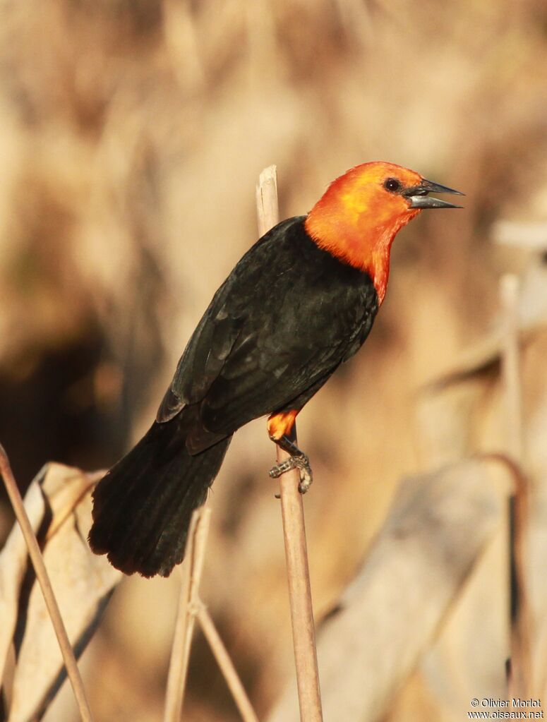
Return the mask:
<path id="1" fill-rule="evenodd" d="M 372 326 L 371 280 L 320 250 L 303 221 L 280 223 L 243 256 L 180 359 L 157 420 L 199 404 L 193 451 L 291 401 L 301 408 Z"/>

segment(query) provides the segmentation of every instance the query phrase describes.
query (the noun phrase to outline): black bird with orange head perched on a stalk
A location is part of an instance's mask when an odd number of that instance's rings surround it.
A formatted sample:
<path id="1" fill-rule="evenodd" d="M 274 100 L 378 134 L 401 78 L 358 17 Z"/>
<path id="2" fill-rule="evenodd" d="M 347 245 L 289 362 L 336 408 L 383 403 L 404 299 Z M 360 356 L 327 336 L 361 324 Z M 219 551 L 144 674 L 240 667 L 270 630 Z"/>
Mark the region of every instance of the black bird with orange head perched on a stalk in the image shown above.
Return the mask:
<path id="1" fill-rule="evenodd" d="M 362 347 L 382 305 L 393 239 L 424 209 L 461 208 L 429 193 L 465 195 L 388 162 L 336 178 L 307 215 L 260 238 L 214 294 L 157 416 L 98 482 L 89 545 L 126 574 L 168 576 L 184 557 L 234 433 L 268 417 L 289 452 L 272 477 L 310 461 L 291 440 L 297 414 Z"/>

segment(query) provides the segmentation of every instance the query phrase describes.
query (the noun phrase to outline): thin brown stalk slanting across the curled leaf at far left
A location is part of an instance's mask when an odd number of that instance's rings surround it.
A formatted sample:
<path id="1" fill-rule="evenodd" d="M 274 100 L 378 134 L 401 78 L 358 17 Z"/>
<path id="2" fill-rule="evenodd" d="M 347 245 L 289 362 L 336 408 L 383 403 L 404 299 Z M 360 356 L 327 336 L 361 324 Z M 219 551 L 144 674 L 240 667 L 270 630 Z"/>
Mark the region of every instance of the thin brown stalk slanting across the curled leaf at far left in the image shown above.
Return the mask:
<path id="1" fill-rule="evenodd" d="M 30 561 L 32 562 L 32 566 L 34 567 L 36 573 L 36 578 L 38 579 L 38 583 L 40 584 L 40 588 L 42 590 L 45 601 L 45 606 L 48 608 L 51 623 L 53 624 L 53 629 L 55 630 L 56 637 L 59 643 L 59 648 L 61 649 L 61 654 L 63 656 L 64 664 L 66 666 L 66 673 L 69 676 L 72 689 L 74 690 L 74 697 L 76 697 L 76 703 L 79 708 L 80 717 L 84 722 L 92 722 L 93 718 L 91 710 L 89 709 L 89 704 L 87 703 L 84 683 L 82 682 L 82 677 L 80 676 L 78 665 L 76 664 L 76 658 L 74 657 L 74 651 L 71 647 L 69 635 L 67 635 L 66 633 L 63 617 L 61 617 L 61 612 L 59 610 L 55 594 L 53 593 L 53 588 L 51 586 L 48 572 L 45 568 L 43 557 L 40 552 L 40 547 L 38 546 L 38 541 L 36 540 L 34 531 L 32 531 L 32 525 L 27 516 L 25 504 L 23 503 L 21 494 L 19 493 L 19 487 L 17 487 L 17 483 L 15 482 L 12 473 L 12 467 L 9 464 L 9 458 L 1 445 L 0 474 L 4 479 L 4 485 L 6 487 L 9 500 L 12 503 L 12 507 L 19 526 L 21 527 L 22 534 L 25 537 Z"/>

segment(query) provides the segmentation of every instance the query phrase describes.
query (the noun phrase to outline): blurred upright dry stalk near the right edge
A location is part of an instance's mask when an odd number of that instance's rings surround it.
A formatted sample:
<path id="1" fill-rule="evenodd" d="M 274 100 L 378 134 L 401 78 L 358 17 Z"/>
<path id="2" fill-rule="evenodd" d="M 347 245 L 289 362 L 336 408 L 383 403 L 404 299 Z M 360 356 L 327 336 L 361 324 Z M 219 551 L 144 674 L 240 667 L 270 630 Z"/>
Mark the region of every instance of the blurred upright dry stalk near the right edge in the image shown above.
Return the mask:
<path id="1" fill-rule="evenodd" d="M 505 328 L 502 348 L 502 379 L 504 386 L 509 458 L 522 469 L 522 393 L 520 383 L 520 349 L 518 326 L 519 282 L 508 274 L 500 284 L 500 300 Z M 522 474 L 521 474 L 522 477 Z M 526 698 L 531 694 L 532 667 L 530 656 L 530 609 L 526 593 L 526 529 L 528 528 L 528 488 L 516 484 L 509 497 L 509 619 L 510 660 L 508 670 L 509 697 Z"/>

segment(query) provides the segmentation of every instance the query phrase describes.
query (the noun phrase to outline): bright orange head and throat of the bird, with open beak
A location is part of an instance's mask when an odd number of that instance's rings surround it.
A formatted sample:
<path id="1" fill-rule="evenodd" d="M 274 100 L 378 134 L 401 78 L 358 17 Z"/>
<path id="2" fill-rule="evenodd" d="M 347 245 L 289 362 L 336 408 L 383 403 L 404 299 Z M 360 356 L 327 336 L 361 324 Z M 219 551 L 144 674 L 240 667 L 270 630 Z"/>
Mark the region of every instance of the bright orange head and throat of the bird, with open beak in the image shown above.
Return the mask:
<path id="1" fill-rule="evenodd" d="M 320 248 L 366 271 L 382 303 L 396 233 L 424 208 L 459 208 L 428 193 L 456 193 L 393 163 L 357 165 L 333 181 L 307 215 Z"/>

